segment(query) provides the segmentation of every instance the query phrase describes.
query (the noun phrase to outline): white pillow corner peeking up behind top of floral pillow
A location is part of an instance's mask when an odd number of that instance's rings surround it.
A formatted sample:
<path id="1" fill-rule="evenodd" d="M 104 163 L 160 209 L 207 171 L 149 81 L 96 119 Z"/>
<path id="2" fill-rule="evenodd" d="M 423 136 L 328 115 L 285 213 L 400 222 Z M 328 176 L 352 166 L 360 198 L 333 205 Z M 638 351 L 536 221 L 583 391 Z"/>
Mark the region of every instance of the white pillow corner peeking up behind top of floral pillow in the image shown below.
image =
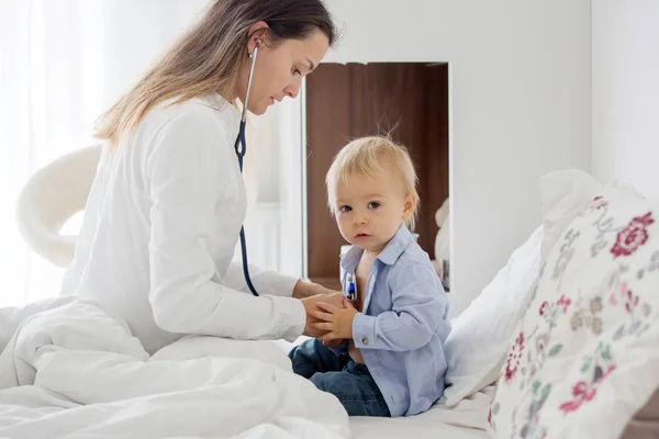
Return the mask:
<path id="1" fill-rule="evenodd" d="M 540 177 L 545 228 L 541 261 L 547 259 L 549 250 L 574 221 L 577 213 L 602 189 L 601 183 L 580 169 L 566 169 Z"/>

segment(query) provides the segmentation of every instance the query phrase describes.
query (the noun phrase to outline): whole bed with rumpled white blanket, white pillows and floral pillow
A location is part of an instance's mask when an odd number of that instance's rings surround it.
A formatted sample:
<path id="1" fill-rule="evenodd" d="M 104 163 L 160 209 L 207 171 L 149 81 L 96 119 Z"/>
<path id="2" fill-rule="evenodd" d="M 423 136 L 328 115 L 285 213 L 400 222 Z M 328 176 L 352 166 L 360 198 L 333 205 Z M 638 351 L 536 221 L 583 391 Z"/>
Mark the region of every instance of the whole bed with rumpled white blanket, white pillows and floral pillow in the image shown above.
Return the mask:
<path id="1" fill-rule="evenodd" d="M 0 437 L 659 437 L 659 204 L 577 170 L 540 193 L 541 224 L 451 320 L 450 385 L 425 414 L 348 418 L 283 341 L 149 357 L 99 305 L 56 297 L 0 309 Z"/>

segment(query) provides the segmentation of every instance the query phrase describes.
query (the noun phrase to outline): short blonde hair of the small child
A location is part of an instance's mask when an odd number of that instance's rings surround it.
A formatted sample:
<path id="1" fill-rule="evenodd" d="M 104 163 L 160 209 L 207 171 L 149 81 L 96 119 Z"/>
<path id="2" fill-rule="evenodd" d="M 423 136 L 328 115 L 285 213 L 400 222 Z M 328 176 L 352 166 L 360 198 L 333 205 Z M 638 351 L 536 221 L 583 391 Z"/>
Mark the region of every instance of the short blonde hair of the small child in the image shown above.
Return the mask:
<path id="1" fill-rule="evenodd" d="M 407 149 L 394 143 L 390 137 L 369 136 L 354 139 L 334 157 L 325 178 L 327 205 L 332 214 L 336 215 L 336 207 L 333 202 L 333 185 L 338 179 L 345 182 L 353 173 L 375 177 L 377 172 L 386 168 L 396 171 L 405 187 L 405 192 L 413 194 L 416 199 L 414 212 L 405 221 L 407 228 L 413 230 L 420 204 L 418 193 L 416 192 L 418 179 Z"/>

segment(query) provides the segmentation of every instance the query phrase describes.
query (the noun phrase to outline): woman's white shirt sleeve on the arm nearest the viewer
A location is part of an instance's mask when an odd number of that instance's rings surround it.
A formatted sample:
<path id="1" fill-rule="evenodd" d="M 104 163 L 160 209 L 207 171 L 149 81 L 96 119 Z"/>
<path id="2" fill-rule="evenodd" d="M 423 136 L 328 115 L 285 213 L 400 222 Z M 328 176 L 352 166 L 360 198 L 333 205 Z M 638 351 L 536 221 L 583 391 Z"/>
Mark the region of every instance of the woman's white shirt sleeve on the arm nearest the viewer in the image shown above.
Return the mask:
<path id="1" fill-rule="evenodd" d="M 253 296 L 228 288 L 206 243 L 232 251 L 222 215 L 239 215 L 230 177 L 235 157 L 223 123 L 203 112 L 180 115 L 158 133 L 147 162 L 152 200 L 149 302 L 156 324 L 178 334 L 294 340 L 305 313 L 292 297 Z M 232 161 L 233 160 L 233 161 Z M 230 249 L 230 250 L 228 250 Z M 292 291 L 292 289 L 291 289 Z"/>

